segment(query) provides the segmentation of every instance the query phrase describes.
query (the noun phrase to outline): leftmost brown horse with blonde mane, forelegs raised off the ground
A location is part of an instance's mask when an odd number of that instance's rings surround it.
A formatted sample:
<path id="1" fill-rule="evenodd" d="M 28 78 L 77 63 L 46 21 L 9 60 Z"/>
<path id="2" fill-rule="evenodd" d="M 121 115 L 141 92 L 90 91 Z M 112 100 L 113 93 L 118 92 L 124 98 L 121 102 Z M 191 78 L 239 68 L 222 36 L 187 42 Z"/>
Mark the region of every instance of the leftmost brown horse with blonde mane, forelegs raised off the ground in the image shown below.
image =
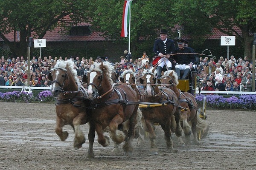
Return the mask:
<path id="1" fill-rule="evenodd" d="M 55 133 L 64 141 L 68 132 L 63 131 L 62 127 L 71 125 L 75 131 L 73 146 L 79 149 L 85 142 L 80 125 L 89 122 L 91 113 L 87 104 L 90 100 L 77 78 L 76 70 L 73 69 L 73 61 L 69 59 L 57 62 L 49 73 L 49 79 L 52 80 L 52 96 L 57 97 Z"/>

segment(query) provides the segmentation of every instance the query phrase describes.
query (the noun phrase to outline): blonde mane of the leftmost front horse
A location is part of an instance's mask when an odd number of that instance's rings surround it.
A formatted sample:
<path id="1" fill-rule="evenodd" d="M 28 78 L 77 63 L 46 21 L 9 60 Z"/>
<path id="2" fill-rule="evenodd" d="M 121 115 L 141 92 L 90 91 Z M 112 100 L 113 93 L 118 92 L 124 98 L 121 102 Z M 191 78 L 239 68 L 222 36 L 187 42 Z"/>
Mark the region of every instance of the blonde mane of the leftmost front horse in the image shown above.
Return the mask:
<path id="1" fill-rule="evenodd" d="M 66 67 L 69 67 L 71 73 L 73 74 L 73 77 L 76 81 L 77 84 L 81 83 L 79 78 L 77 77 L 77 71 L 73 68 L 74 67 L 74 62 L 71 59 L 68 59 L 67 61 L 57 61 L 56 64 L 54 65 L 54 68 L 52 68 L 51 70 L 57 70 L 57 69 L 61 69 L 62 70 L 66 70 Z M 67 71 L 67 70 L 66 70 Z"/>

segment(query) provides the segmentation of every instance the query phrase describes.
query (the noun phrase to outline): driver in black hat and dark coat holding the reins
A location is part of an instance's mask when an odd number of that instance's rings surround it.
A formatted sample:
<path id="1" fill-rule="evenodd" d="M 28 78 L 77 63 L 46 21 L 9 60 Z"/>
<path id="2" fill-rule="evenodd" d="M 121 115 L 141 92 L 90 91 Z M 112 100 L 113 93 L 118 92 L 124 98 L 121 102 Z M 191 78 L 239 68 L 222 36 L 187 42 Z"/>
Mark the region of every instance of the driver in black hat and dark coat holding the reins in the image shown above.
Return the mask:
<path id="1" fill-rule="evenodd" d="M 175 51 L 174 41 L 167 38 L 168 31 L 162 29 L 160 34 L 160 39 L 154 42 L 154 54 L 158 57 L 158 66 L 157 66 L 157 78 L 161 77 L 161 72 L 164 65 L 167 66 L 168 70 L 172 69 L 172 62 L 169 60 L 170 56 L 164 57 L 166 54 L 172 54 Z"/>

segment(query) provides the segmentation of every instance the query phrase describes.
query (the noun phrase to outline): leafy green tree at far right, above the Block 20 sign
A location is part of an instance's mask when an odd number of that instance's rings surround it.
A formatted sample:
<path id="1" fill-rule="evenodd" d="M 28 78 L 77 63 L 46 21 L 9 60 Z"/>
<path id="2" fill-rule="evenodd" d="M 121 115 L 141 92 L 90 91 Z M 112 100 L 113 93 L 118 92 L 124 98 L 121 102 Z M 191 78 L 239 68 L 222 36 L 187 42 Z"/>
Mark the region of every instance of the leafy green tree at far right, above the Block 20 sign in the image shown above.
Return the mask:
<path id="1" fill-rule="evenodd" d="M 253 32 L 256 32 L 256 1 L 251 0 L 179 0 L 174 12 L 177 23 L 192 37 L 204 37 L 211 28 L 236 36 L 244 47 L 244 56 L 252 59 Z M 236 31 L 240 28 L 241 32 Z M 200 30 L 200 31 L 198 31 Z"/>

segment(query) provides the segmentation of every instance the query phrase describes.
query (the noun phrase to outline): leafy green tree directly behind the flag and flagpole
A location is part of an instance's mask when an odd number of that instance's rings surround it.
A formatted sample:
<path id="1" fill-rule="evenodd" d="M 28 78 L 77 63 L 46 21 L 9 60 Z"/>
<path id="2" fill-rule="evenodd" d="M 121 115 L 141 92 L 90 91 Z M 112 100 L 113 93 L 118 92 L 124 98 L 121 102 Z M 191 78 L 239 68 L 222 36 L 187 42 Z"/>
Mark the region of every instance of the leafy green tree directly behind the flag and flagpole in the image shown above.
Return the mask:
<path id="1" fill-rule="evenodd" d="M 174 15 L 171 8 L 174 0 L 134 0 L 131 6 L 131 52 L 133 56 L 142 55 L 143 51 L 153 54 L 154 40 L 159 36 L 161 28 L 167 28 L 171 33 L 174 27 Z M 92 29 L 102 32 L 107 39 L 115 42 L 128 38 L 120 37 L 122 29 L 122 12 L 124 0 L 94 0 L 89 6 Z M 172 36 L 172 35 L 170 35 Z M 140 41 L 143 38 L 143 42 Z M 120 54 L 124 49 L 120 49 Z M 134 55 L 135 54 L 135 55 Z"/>

